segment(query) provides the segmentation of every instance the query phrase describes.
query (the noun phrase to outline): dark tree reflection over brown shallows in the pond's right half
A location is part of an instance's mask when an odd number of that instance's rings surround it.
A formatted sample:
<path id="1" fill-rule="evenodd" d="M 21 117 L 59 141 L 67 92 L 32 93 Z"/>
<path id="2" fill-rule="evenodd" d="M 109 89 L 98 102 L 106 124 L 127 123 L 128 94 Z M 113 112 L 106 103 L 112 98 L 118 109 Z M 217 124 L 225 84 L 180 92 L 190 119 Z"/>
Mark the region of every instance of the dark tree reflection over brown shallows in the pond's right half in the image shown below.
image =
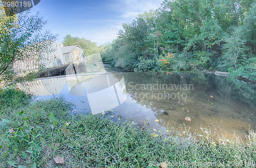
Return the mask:
<path id="1" fill-rule="evenodd" d="M 178 127 L 185 122 L 185 117 L 190 116 L 192 122 L 187 122 L 187 124 L 197 130 L 202 123 L 205 127 L 215 128 L 214 130 L 219 133 L 232 134 L 236 130 L 240 136 L 243 136 L 249 124 L 253 127 L 254 115 L 251 113 L 255 107 L 252 99 L 255 97 L 255 86 L 250 83 L 214 74 L 195 73 L 124 73 L 124 78 L 127 93 L 136 103 L 155 111 L 155 116 L 164 126 L 170 122 L 172 126 Z M 194 85 L 194 90 L 167 91 L 186 93 L 186 100 L 166 97 L 158 100 L 154 97 L 146 98 L 147 94 L 152 95 L 150 88 L 135 89 L 136 84 L 146 86 L 157 82 L 174 85 L 191 83 Z M 153 90 L 153 93 L 163 94 L 164 90 Z"/>

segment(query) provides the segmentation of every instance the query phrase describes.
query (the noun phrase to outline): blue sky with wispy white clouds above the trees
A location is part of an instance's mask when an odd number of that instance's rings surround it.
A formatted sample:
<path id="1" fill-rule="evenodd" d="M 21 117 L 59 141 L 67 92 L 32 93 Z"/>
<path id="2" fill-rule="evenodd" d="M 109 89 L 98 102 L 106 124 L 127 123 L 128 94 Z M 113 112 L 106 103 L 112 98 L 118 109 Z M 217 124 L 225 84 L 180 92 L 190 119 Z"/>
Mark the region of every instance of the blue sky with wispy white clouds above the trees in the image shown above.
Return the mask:
<path id="1" fill-rule="evenodd" d="M 57 42 L 66 35 L 96 42 L 112 42 L 122 23 L 131 23 L 138 14 L 156 10 L 163 0 L 41 0 L 31 15 L 47 20 L 45 30 L 57 34 Z"/>

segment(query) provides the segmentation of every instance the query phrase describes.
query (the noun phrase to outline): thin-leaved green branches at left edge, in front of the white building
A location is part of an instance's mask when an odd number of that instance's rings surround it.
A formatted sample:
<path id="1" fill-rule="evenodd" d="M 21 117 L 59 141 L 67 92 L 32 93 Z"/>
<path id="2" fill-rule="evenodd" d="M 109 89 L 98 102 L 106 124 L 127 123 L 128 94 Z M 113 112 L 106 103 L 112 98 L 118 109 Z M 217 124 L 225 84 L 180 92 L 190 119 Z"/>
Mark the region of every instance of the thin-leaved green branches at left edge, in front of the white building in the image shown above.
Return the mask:
<path id="1" fill-rule="evenodd" d="M 7 17 L 2 7 L 0 11 L 0 79 L 6 82 L 17 79 L 13 69 L 16 61 L 36 59 L 42 63 L 42 53 L 52 50 L 51 41 L 56 36 L 49 31 L 40 32 L 47 22 L 38 13 Z"/>

